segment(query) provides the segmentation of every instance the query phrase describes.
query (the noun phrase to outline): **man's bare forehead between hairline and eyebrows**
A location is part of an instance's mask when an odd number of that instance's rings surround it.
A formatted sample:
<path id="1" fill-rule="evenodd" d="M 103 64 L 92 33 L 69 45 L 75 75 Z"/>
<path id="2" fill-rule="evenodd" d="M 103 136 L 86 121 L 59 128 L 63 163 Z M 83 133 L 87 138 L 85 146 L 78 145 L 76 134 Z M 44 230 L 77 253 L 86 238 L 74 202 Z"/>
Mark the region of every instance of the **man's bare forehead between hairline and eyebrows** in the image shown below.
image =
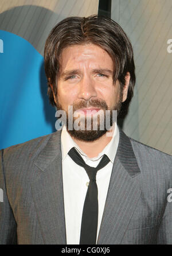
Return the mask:
<path id="1" fill-rule="evenodd" d="M 60 56 L 61 68 L 73 68 L 73 65 L 97 65 L 99 68 L 113 68 L 110 55 L 100 46 L 83 44 L 67 46 Z"/>

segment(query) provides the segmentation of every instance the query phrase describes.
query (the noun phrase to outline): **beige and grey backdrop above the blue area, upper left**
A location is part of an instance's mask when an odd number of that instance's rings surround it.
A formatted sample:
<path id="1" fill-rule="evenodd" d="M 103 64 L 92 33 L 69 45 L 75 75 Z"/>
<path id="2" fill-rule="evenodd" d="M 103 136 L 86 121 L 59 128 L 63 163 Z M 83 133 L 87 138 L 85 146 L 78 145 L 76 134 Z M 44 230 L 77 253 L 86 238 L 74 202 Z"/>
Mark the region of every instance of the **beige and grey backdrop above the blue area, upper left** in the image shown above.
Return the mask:
<path id="1" fill-rule="evenodd" d="M 1 0 L 0 29 L 25 38 L 44 55 L 45 40 L 58 22 L 97 14 L 98 5 L 99 0 Z"/>

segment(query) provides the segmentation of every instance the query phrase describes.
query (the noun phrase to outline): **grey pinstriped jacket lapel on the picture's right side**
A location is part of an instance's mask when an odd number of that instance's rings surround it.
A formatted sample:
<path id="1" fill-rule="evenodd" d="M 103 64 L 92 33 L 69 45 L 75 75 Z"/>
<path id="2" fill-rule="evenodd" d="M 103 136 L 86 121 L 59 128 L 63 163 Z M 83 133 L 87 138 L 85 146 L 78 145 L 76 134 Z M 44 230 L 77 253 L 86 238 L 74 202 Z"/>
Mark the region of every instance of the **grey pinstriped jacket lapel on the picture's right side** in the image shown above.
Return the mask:
<path id="1" fill-rule="evenodd" d="M 140 197 L 140 173 L 130 139 L 120 130 L 97 244 L 120 244 Z"/>

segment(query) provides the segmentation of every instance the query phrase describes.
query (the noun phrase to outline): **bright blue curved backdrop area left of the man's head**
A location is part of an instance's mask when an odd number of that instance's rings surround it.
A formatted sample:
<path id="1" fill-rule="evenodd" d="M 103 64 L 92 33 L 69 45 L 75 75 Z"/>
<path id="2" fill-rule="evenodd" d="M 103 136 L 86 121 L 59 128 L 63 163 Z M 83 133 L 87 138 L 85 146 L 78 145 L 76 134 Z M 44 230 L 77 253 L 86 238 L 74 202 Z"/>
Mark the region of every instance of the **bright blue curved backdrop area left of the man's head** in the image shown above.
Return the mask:
<path id="1" fill-rule="evenodd" d="M 55 131 L 43 57 L 24 38 L 0 30 L 0 149 Z"/>

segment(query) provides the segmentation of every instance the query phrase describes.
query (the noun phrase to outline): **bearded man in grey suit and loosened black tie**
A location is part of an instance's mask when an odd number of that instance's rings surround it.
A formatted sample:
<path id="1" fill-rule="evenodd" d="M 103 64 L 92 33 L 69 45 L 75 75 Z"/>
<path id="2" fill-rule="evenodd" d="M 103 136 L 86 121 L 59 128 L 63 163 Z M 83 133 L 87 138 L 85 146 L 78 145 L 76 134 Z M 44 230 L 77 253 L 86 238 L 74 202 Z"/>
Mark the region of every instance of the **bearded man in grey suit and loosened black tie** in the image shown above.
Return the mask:
<path id="1" fill-rule="evenodd" d="M 96 15 L 61 21 L 46 40 L 45 72 L 50 103 L 67 119 L 62 131 L 1 150 L 0 243 L 172 244 L 172 157 L 113 119 L 127 113 L 135 84 L 122 28 Z"/>

